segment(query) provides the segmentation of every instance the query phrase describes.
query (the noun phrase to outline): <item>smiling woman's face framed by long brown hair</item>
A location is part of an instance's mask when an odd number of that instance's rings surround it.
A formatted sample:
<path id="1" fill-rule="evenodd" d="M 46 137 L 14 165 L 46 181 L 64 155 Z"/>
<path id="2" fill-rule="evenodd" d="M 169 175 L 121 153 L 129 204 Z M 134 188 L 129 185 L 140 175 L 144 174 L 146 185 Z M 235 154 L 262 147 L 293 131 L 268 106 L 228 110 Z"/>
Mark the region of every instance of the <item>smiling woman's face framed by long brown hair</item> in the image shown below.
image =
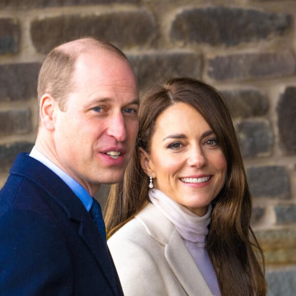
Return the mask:
<path id="1" fill-rule="evenodd" d="M 203 116 L 185 103 L 168 107 L 155 122 L 151 153 L 141 150 L 141 166 L 154 188 L 203 216 L 223 188 L 227 162 Z"/>

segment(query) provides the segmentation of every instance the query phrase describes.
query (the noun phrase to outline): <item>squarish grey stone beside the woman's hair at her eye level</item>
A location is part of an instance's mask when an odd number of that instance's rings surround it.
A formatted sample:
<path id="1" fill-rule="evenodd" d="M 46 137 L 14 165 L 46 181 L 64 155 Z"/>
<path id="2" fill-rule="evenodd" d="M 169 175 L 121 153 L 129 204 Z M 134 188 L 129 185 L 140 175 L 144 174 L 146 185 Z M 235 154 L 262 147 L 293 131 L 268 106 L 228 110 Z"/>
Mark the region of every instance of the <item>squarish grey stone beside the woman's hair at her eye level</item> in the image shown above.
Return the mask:
<path id="1" fill-rule="evenodd" d="M 244 120 L 240 122 L 238 130 L 241 154 L 244 158 L 271 154 L 274 135 L 267 120 Z"/>

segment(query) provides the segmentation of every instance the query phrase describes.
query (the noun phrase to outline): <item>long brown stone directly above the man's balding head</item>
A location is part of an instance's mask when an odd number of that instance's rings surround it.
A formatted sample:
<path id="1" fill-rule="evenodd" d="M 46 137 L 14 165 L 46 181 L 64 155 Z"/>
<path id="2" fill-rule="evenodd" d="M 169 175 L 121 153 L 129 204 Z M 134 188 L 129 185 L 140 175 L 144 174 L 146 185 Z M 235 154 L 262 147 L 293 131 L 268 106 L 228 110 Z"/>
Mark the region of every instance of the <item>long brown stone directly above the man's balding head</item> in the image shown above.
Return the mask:
<path id="1" fill-rule="evenodd" d="M 118 11 L 102 15 L 64 15 L 31 24 L 31 38 L 39 53 L 82 36 L 102 37 L 118 47 L 150 45 L 157 33 L 153 15 L 145 10 Z"/>

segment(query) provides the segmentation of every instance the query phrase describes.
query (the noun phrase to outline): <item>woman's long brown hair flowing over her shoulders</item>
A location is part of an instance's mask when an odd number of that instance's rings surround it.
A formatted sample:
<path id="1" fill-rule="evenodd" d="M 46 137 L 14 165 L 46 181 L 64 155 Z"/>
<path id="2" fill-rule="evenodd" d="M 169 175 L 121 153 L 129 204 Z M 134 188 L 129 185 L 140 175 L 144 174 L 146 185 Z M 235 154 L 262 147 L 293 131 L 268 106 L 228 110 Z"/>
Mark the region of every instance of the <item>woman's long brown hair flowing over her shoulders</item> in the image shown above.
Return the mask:
<path id="1" fill-rule="evenodd" d="M 235 129 L 221 95 L 201 81 L 171 79 L 153 88 L 142 101 L 136 150 L 124 180 L 110 190 L 106 212 L 109 235 L 149 202 L 149 178 L 141 168 L 138 147 L 150 151 L 157 117 L 178 102 L 191 105 L 205 118 L 227 160 L 226 183 L 212 203 L 207 236 L 221 294 L 265 295 L 263 253 L 250 226 L 252 199 Z"/>

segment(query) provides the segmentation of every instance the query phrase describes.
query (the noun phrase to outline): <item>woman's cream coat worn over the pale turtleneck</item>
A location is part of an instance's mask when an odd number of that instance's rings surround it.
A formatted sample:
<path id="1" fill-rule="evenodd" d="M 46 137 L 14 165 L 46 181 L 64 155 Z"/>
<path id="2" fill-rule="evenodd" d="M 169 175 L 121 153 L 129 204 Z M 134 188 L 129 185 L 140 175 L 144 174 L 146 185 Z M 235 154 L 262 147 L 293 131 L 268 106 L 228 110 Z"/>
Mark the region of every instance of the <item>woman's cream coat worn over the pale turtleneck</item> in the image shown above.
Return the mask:
<path id="1" fill-rule="evenodd" d="M 126 296 L 213 295 L 174 225 L 152 204 L 108 245 Z"/>

